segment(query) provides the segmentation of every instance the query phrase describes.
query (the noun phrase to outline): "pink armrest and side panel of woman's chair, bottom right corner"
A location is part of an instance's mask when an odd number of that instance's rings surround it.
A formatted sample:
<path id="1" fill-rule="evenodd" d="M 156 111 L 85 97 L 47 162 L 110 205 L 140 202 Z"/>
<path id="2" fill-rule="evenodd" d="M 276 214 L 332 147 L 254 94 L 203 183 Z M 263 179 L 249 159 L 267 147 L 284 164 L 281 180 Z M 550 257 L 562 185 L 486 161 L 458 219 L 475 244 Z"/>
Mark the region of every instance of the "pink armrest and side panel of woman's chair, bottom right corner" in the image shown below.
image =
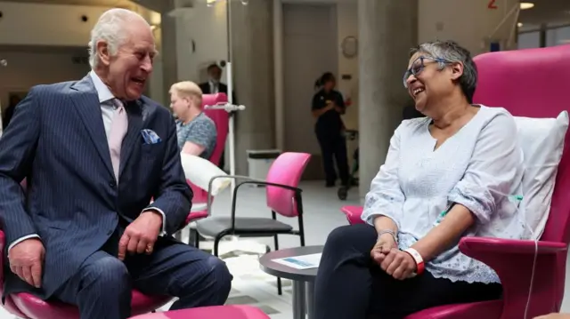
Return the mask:
<path id="1" fill-rule="evenodd" d="M 566 250 L 565 243 L 538 242 L 536 246 L 528 240 L 485 237 L 464 237 L 460 241 L 461 252 L 484 262 L 499 275 L 503 286 L 501 318 L 525 317 L 531 277 L 527 317 L 558 312 L 557 296 L 559 289 L 564 289 L 566 275 L 566 269 L 558 268 L 558 259 L 566 260 Z"/>

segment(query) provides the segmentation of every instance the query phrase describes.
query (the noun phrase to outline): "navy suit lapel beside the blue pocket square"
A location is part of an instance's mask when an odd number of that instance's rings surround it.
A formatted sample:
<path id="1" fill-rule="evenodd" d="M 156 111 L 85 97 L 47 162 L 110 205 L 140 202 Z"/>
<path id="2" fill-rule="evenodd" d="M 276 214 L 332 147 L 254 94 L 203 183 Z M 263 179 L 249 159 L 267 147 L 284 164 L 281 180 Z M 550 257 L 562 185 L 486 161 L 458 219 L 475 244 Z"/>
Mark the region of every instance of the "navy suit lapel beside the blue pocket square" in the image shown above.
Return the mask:
<path id="1" fill-rule="evenodd" d="M 137 141 L 141 143 L 141 130 L 144 118 L 146 118 L 144 112 L 147 111 L 141 100 L 127 102 L 125 109 L 126 116 L 128 116 L 128 128 L 126 130 L 125 139 L 123 139 L 123 143 L 121 144 L 121 161 L 118 165 L 119 180 L 122 172 L 125 170 L 129 157 L 133 154 L 133 149 Z"/>

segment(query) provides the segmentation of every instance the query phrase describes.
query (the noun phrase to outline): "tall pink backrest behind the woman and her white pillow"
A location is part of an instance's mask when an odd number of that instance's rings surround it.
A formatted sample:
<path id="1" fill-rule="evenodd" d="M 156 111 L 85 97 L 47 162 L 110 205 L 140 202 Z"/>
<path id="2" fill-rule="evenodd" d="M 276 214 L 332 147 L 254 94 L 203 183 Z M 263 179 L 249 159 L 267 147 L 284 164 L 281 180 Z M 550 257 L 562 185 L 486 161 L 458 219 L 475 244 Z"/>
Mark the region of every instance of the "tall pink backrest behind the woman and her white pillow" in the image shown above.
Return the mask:
<path id="1" fill-rule="evenodd" d="M 475 103 L 529 117 L 556 117 L 570 108 L 570 45 L 486 53 L 475 61 L 479 73 Z M 566 133 L 549 220 L 541 240 L 570 242 L 570 133 Z M 566 253 L 558 256 L 558 272 L 564 278 Z M 560 284 L 558 301 L 563 296 L 564 284 Z"/>

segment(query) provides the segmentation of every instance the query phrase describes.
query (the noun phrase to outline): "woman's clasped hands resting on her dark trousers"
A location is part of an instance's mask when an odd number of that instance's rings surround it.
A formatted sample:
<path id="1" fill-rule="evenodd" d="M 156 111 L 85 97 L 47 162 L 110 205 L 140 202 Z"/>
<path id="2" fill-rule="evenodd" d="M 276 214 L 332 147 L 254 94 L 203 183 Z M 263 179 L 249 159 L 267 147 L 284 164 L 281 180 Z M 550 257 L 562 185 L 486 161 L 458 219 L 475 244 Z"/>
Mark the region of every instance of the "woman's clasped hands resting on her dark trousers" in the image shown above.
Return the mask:
<path id="1" fill-rule="evenodd" d="M 371 258 L 388 275 L 398 280 L 410 278 L 417 269 L 416 261 L 409 253 L 400 251 L 394 237 L 389 234 L 379 236 L 371 250 Z"/>

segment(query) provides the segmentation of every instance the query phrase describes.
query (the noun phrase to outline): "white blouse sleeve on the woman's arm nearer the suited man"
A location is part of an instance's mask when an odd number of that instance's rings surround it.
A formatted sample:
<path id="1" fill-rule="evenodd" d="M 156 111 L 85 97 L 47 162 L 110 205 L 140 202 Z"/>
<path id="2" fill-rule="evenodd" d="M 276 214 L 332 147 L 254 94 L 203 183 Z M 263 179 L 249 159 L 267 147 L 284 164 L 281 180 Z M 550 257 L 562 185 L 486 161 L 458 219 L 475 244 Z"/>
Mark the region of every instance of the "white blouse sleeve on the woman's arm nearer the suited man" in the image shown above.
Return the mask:
<path id="1" fill-rule="evenodd" d="M 404 122 L 405 123 L 405 122 Z M 400 153 L 400 137 L 403 131 L 401 124 L 390 139 L 390 147 L 386 156 L 386 162 L 380 166 L 380 171 L 371 182 L 371 190 L 364 199 L 362 220 L 374 225 L 377 216 L 386 216 L 394 220 L 400 228 L 400 219 L 403 211 L 403 195 L 398 179 L 398 162 Z"/>

